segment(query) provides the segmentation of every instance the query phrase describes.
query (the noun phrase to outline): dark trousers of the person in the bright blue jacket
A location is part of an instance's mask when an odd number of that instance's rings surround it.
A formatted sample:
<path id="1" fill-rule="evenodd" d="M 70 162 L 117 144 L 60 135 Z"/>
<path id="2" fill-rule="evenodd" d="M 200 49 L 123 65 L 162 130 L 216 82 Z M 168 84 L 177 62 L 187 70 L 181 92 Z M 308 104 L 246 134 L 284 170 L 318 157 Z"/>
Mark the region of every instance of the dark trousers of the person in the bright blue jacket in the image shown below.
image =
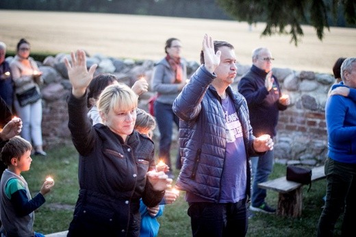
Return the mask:
<path id="1" fill-rule="evenodd" d="M 333 236 L 335 223 L 344 212 L 342 236 L 355 236 L 356 164 L 325 161 L 327 200 L 318 223 L 318 236 Z"/>

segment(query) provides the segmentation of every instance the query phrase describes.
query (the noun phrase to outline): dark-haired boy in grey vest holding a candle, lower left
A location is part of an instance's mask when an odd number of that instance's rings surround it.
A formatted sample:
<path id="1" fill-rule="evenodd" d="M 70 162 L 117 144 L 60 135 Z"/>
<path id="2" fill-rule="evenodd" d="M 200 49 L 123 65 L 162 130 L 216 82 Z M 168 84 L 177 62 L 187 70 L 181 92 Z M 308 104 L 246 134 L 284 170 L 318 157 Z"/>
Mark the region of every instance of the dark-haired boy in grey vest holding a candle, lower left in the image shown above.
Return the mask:
<path id="1" fill-rule="evenodd" d="M 45 181 L 40 192 L 33 199 L 26 180 L 21 175 L 31 166 L 32 146 L 20 136 L 14 136 L 4 145 L 0 158 L 8 166 L 0 182 L 1 234 L 5 236 L 43 236 L 34 232 L 34 210 L 46 200 L 54 185 L 53 180 Z"/>

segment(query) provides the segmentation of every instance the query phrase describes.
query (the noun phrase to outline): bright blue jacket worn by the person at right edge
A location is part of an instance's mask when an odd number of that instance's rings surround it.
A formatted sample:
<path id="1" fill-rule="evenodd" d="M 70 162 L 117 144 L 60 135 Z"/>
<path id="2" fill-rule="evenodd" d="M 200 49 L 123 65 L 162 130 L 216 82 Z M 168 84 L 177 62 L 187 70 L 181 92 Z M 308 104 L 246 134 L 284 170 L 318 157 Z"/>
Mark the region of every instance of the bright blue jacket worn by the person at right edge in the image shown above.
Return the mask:
<path id="1" fill-rule="evenodd" d="M 345 86 L 343 82 L 332 90 Z M 356 90 L 350 88 L 348 97 L 332 95 L 325 105 L 329 158 L 356 164 Z"/>

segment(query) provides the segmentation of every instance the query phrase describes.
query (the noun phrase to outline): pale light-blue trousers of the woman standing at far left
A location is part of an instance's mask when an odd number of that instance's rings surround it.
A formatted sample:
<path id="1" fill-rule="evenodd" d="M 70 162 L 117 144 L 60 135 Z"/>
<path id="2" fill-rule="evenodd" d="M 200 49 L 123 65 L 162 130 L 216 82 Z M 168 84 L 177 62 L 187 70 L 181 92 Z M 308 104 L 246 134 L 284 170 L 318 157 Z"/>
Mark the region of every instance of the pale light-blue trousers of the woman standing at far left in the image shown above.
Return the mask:
<path id="1" fill-rule="evenodd" d="M 31 142 L 35 149 L 42 146 L 42 100 L 21 107 L 18 100 L 14 100 L 16 114 L 23 121 L 21 137 Z"/>

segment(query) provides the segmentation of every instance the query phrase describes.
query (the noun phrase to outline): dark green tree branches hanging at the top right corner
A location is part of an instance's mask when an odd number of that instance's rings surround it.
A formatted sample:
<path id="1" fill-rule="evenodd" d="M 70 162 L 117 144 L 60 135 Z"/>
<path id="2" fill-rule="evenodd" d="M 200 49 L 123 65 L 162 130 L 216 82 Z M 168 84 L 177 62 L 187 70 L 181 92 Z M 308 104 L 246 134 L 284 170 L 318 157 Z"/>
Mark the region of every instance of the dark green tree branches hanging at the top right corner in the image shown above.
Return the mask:
<path id="1" fill-rule="evenodd" d="M 324 29 L 329 29 L 328 18 L 335 21 L 338 9 L 346 22 L 356 23 L 355 0 L 217 0 L 233 18 L 247 21 L 249 24 L 266 22 L 262 36 L 273 34 L 289 34 L 290 42 L 298 45 L 303 37 L 301 24 L 312 25 L 320 40 L 324 36 Z M 331 17 L 332 16 L 332 17 Z"/>

